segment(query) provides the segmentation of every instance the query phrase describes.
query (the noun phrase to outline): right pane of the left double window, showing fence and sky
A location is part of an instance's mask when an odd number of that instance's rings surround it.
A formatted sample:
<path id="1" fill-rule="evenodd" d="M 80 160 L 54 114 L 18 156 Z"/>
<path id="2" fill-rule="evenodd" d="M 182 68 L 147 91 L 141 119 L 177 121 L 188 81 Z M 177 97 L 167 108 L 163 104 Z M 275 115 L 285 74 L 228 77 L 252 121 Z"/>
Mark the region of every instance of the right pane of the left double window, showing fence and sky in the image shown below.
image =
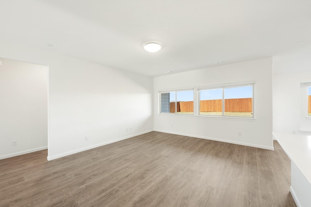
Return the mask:
<path id="1" fill-rule="evenodd" d="M 177 113 L 193 114 L 193 91 L 177 91 Z"/>

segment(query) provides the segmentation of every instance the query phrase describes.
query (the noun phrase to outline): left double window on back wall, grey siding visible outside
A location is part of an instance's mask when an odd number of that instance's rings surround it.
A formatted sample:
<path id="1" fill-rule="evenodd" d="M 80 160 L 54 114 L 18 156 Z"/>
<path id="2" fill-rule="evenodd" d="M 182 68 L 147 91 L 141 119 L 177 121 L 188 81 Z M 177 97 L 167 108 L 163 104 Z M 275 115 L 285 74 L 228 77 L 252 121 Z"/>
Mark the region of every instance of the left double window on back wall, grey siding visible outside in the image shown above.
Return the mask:
<path id="1" fill-rule="evenodd" d="M 193 90 L 160 92 L 159 95 L 160 113 L 193 114 Z"/>

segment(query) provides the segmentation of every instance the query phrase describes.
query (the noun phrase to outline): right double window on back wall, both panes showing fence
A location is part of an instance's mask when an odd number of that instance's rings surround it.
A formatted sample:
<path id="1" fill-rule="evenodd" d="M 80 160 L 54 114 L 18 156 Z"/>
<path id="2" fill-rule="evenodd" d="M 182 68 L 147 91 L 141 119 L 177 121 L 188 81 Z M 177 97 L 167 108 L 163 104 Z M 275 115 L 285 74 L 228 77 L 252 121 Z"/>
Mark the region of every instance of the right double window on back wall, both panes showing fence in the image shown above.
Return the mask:
<path id="1" fill-rule="evenodd" d="M 254 84 L 199 89 L 199 115 L 254 117 Z"/>

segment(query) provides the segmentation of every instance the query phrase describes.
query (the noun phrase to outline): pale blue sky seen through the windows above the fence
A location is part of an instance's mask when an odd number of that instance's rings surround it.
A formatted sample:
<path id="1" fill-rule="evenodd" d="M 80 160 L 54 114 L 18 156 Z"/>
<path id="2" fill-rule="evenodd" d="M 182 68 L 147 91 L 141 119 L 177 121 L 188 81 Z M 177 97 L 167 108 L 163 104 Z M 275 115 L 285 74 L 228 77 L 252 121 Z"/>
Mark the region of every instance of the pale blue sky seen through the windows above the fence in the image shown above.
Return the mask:
<path id="1" fill-rule="evenodd" d="M 311 87 L 309 88 L 309 94 Z M 251 98 L 253 97 L 253 87 L 244 86 L 238 88 L 225 88 L 225 99 L 230 98 Z M 222 89 L 200 91 L 201 100 L 222 99 Z M 175 101 L 175 92 L 170 93 L 170 101 Z M 193 101 L 193 91 L 177 91 L 177 101 Z"/>

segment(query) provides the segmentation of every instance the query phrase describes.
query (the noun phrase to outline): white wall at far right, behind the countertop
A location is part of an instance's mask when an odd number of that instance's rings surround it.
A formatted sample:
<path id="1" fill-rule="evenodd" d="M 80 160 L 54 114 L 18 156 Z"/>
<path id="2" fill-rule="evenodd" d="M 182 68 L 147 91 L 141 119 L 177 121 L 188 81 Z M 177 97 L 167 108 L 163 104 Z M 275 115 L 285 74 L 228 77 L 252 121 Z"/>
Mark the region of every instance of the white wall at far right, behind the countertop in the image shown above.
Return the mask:
<path id="1" fill-rule="evenodd" d="M 301 83 L 311 82 L 311 55 L 274 57 L 273 68 L 273 131 L 310 135 L 300 129 L 311 131 L 301 107 L 306 106 Z"/>

